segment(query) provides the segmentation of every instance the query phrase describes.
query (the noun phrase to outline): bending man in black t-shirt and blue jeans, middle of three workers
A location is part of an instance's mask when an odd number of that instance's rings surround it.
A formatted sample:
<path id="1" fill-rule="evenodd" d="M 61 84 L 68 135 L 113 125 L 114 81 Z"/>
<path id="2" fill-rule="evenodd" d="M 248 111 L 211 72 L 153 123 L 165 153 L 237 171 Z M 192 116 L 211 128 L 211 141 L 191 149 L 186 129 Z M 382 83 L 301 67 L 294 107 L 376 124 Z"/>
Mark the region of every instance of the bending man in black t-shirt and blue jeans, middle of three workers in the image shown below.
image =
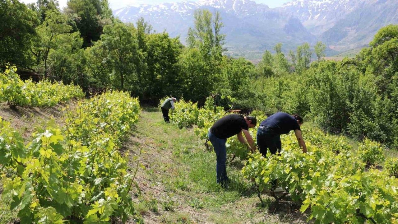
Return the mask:
<path id="1" fill-rule="evenodd" d="M 253 128 L 256 126 L 256 124 L 257 119 L 255 117 L 244 117 L 239 114 L 228 114 L 217 120 L 210 128 L 207 136 L 214 147 L 217 157 L 217 183 L 225 186 L 226 182 L 228 181 L 225 168 L 226 139 L 236 135 L 241 143 L 247 145 L 248 149 L 254 152 L 256 147 L 254 147 L 254 141 L 249 133 L 249 128 Z M 247 142 L 243 138 L 242 132 L 246 137 Z"/>

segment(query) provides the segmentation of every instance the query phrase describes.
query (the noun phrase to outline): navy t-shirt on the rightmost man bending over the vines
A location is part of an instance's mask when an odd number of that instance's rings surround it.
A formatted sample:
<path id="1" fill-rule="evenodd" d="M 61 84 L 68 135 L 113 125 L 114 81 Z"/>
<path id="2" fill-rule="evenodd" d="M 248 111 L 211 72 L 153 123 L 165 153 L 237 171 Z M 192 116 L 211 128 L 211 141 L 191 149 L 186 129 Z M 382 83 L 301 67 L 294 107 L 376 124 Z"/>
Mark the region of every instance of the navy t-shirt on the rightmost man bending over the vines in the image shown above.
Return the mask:
<path id="1" fill-rule="evenodd" d="M 277 112 L 263 120 L 261 126 L 273 128 L 275 134 L 287 134 L 291 130 L 301 130 L 297 120 L 290 114 Z"/>

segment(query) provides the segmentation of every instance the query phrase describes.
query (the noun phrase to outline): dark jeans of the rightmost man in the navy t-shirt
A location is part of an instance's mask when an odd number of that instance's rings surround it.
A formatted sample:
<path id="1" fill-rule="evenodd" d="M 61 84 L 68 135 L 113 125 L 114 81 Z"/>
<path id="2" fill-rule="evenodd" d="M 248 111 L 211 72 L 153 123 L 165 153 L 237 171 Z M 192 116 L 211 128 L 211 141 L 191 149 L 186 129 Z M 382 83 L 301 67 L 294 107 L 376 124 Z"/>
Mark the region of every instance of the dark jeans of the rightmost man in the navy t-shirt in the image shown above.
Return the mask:
<path id="1" fill-rule="evenodd" d="M 275 134 L 272 128 L 259 126 L 257 129 L 257 147 L 263 157 L 267 155 L 267 149 L 272 154 L 276 154 L 282 148 L 281 136 Z"/>

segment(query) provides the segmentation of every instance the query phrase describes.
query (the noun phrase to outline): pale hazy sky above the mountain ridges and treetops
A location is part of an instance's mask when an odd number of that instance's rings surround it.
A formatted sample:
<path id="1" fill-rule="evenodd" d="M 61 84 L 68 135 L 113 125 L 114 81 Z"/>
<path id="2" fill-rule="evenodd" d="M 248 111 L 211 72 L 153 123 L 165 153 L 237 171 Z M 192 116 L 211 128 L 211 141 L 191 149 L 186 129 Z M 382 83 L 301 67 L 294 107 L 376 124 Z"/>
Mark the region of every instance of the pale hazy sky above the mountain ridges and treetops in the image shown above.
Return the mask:
<path id="1" fill-rule="evenodd" d="M 161 4 L 165 2 L 182 2 L 183 0 L 108 0 L 111 8 L 113 10 L 122 8 L 125 6 L 137 6 L 140 4 Z M 197 0 L 193 0 L 197 1 Z M 291 0 L 255 0 L 257 3 L 263 3 L 268 5 L 270 8 L 275 8 L 281 6 L 285 2 L 290 2 Z M 22 0 L 24 3 L 36 2 L 36 0 Z M 58 0 L 60 8 L 66 6 L 67 0 Z"/>

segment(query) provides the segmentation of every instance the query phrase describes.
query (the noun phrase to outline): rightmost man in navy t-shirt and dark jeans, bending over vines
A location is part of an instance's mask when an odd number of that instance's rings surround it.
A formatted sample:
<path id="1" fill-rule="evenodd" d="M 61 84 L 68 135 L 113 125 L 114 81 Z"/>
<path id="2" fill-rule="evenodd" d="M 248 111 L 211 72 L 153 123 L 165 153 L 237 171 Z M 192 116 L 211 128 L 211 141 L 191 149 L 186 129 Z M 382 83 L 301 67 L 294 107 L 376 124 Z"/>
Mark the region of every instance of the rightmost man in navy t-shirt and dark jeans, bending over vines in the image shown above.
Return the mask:
<path id="1" fill-rule="evenodd" d="M 275 154 L 281 151 L 281 134 L 287 134 L 294 130 L 298 145 L 302 148 L 304 153 L 307 152 L 307 147 L 301 136 L 300 126 L 303 120 L 298 114 L 287 114 L 284 112 L 277 112 L 261 122 L 257 130 L 257 147 L 260 153 L 265 157 L 267 149 Z"/>

